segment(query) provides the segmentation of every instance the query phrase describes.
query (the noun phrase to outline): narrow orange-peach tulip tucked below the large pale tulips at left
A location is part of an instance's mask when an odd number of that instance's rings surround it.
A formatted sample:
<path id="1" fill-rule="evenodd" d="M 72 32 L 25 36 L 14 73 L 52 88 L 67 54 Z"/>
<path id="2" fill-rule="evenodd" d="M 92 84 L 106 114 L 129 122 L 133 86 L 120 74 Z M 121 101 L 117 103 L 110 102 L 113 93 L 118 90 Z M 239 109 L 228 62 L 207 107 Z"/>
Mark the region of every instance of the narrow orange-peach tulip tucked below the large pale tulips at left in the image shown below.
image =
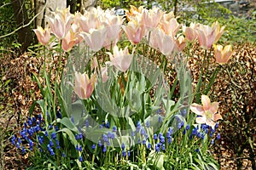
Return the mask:
<path id="1" fill-rule="evenodd" d="M 62 39 L 61 42 L 61 48 L 68 52 L 69 50 L 71 50 L 76 42 L 76 37 L 75 37 L 75 33 L 73 32 L 73 30 L 71 29 L 70 31 L 67 32 L 67 35 Z"/>

